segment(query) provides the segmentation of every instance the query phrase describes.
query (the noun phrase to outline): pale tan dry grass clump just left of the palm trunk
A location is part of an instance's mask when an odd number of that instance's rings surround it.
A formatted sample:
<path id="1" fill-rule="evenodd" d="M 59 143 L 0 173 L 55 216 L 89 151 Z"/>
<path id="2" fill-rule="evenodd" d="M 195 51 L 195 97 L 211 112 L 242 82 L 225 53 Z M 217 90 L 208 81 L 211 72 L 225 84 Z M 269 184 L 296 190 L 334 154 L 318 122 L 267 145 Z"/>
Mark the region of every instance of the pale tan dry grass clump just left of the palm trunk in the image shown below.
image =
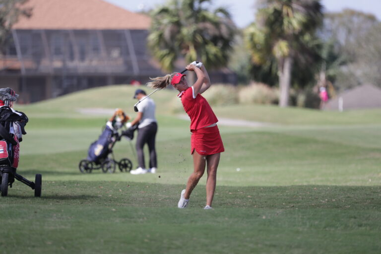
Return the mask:
<path id="1" fill-rule="evenodd" d="M 277 104 L 279 90 L 262 83 L 252 83 L 239 91 L 240 104 Z"/>

